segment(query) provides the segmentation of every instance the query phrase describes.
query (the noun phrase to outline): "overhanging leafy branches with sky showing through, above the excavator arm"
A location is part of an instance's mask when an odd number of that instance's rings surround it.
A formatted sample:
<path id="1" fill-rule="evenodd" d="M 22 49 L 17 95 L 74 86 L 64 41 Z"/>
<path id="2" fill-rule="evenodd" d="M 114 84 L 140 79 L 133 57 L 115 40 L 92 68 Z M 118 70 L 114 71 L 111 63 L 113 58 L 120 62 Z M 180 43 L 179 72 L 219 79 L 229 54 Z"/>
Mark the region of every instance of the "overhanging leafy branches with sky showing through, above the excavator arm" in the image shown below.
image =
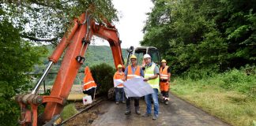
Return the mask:
<path id="1" fill-rule="evenodd" d="M 70 20 L 85 13 L 86 9 L 90 9 L 99 22 L 104 18 L 110 22 L 119 20 L 111 0 L 4 0 L 0 6 L 6 13 L 2 18 L 23 29 L 22 37 L 38 42 L 43 38 L 56 44 L 70 26 Z"/>

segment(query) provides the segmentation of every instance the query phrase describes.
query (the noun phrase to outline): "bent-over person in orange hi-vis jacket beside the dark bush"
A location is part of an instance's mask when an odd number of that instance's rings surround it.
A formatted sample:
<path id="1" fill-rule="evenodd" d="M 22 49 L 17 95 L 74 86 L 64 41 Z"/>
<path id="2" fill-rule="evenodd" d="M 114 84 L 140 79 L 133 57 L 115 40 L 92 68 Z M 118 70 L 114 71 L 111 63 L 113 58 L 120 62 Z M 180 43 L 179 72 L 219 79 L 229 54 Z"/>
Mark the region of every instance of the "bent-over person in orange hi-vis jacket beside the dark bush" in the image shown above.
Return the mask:
<path id="1" fill-rule="evenodd" d="M 88 68 L 88 66 L 85 67 L 85 78 L 84 78 L 83 84 L 84 84 L 84 87 L 83 87 L 84 94 L 93 96 L 95 94 L 97 85 L 92 78 L 92 73 L 90 72 L 90 69 Z"/>

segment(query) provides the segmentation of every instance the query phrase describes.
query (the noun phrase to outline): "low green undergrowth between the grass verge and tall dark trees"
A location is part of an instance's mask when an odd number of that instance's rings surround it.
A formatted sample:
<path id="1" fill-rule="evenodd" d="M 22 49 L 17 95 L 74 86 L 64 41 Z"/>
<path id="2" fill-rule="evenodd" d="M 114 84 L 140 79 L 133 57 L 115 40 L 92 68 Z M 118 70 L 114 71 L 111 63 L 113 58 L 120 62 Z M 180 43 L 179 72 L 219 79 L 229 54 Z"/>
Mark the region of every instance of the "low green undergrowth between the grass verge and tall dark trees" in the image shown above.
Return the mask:
<path id="1" fill-rule="evenodd" d="M 238 91 L 247 95 L 248 98 L 256 97 L 256 68 L 249 66 L 243 69 L 232 69 L 223 73 L 213 73 L 203 70 L 187 72 L 183 80 L 194 83 L 198 87 L 205 85 L 215 85 L 223 88 L 225 91 Z M 179 80 L 181 81 L 181 80 Z M 188 82 L 183 82 L 188 83 Z"/>

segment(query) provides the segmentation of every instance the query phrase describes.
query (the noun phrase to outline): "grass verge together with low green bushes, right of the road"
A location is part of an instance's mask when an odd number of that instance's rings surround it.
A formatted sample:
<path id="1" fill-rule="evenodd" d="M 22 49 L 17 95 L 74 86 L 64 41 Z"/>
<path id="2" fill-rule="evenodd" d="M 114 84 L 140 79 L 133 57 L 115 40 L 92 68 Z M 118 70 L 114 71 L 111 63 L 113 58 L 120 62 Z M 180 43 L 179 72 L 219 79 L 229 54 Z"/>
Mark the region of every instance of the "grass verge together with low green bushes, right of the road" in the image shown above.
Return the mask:
<path id="1" fill-rule="evenodd" d="M 256 117 L 256 68 L 247 65 L 201 79 L 176 77 L 171 92 L 232 125 L 253 124 Z"/>

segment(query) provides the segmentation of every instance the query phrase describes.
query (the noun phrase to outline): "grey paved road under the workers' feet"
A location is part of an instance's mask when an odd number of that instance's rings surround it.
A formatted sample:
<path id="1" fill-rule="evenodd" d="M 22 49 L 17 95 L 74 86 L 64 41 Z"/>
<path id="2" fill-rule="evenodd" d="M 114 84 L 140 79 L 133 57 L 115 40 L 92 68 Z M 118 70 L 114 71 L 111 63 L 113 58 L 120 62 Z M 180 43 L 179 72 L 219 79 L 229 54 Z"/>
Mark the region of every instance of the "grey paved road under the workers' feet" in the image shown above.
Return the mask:
<path id="1" fill-rule="evenodd" d="M 100 109 L 100 114 L 93 121 L 92 125 L 140 125 L 140 126 L 182 126 L 182 125 L 200 125 L 200 126 L 226 126 L 228 124 L 222 122 L 215 117 L 210 116 L 201 109 L 191 106 L 189 103 L 170 95 L 171 102 L 168 106 L 160 103 L 160 114 L 157 120 L 152 120 L 151 117 L 141 117 L 134 113 L 126 116 L 125 104 L 115 105 L 115 102 L 105 101 L 97 107 Z M 133 103 L 133 102 L 132 102 Z M 141 113 L 145 113 L 145 102 L 140 100 Z"/>

